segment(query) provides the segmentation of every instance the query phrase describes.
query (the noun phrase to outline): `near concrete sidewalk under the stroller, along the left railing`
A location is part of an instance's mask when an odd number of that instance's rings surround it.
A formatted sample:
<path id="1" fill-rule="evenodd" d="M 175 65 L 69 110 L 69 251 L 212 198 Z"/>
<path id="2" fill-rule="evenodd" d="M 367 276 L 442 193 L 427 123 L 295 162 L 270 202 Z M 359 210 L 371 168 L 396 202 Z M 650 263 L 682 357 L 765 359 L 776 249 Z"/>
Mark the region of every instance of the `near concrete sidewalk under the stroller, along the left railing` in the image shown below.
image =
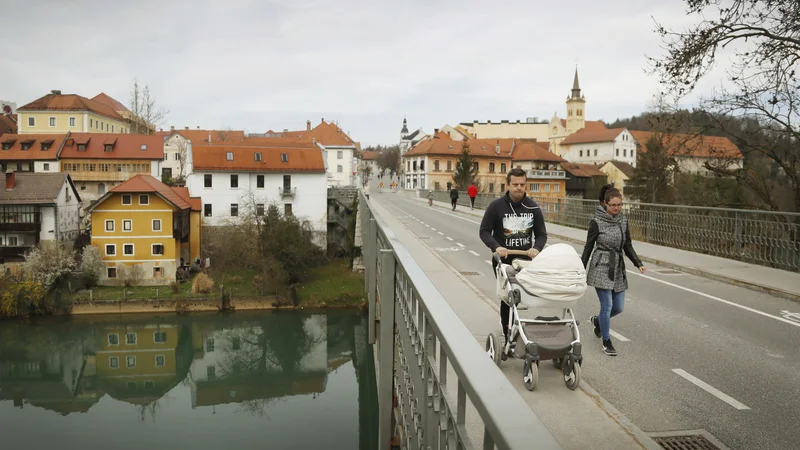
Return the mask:
<path id="1" fill-rule="evenodd" d="M 376 197 L 373 195 L 371 200 Z M 483 348 L 486 336 L 499 328 L 497 302 L 487 298 L 446 264 L 380 202 L 371 201 L 370 204 Z M 549 361 L 541 365 L 539 384 L 534 392 L 527 391 L 523 385 L 521 360 L 509 359 L 501 364 L 500 370 L 564 449 L 661 449 L 585 380 L 581 381 L 579 389 L 569 390 L 561 372 Z M 477 428 L 482 427 L 477 425 Z M 531 443 L 531 448 L 535 448 L 535 442 Z"/>

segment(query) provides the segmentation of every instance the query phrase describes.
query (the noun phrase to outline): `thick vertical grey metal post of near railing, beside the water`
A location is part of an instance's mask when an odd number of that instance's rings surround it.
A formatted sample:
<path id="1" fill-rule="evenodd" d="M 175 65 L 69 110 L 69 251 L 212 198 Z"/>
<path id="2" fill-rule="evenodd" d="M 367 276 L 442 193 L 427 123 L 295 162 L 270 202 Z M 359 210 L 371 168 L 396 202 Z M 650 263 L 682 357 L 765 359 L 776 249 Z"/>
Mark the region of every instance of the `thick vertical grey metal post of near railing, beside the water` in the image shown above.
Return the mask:
<path id="1" fill-rule="evenodd" d="M 381 316 L 378 339 L 378 448 L 392 441 L 394 393 L 395 259 L 392 250 L 381 249 Z M 374 322 L 373 322 L 374 323 Z"/>

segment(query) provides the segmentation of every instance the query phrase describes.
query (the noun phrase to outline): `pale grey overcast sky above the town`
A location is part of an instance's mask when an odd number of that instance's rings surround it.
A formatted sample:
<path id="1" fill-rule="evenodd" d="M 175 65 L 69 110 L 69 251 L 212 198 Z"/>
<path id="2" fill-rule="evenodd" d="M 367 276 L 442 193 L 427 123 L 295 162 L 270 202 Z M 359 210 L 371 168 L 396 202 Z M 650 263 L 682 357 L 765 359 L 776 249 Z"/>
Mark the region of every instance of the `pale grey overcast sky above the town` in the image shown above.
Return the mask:
<path id="1" fill-rule="evenodd" d="M 25 1 L 4 8 L 0 100 L 61 89 L 128 104 L 148 84 L 169 128 L 248 132 L 336 120 L 395 144 L 473 120 L 564 116 L 577 64 L 587 118 L 646 109 L 653 32 L 693 18 L 681 0 Z M 564 5 L 569 5 L 569 9 Z M 703 88 L 710 88 L 706 80 Z"/>

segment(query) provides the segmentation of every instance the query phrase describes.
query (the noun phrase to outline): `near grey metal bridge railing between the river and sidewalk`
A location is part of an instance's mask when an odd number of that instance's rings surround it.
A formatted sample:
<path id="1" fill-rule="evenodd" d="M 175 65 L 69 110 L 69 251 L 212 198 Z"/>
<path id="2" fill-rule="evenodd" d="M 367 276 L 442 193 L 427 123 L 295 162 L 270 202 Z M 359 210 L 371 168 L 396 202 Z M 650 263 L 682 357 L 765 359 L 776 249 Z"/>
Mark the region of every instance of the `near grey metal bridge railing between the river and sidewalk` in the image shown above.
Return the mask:
<path id="1" fill-rule="evenodd" d="M 393 418 L 406 449 L 561 448 L 364 194 L 359 197 L 379 448 L 389 445 Z M 449 368 L 456 379 L 448 378 Z M 468 435 L 468 401 L 483 422 L 482 447 Z"/>

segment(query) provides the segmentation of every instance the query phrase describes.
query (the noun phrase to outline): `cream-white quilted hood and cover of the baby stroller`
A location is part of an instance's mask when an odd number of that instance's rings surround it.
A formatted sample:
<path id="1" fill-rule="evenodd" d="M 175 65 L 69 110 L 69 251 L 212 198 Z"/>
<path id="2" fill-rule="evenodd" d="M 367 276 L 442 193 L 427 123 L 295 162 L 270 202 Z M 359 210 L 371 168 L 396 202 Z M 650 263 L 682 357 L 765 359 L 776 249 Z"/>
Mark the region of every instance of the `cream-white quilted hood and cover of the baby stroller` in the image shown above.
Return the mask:
<path id="1" fill-rule="evenodd" d="M 532 261 L 515 260 L 514 265 L 521 268 L 517 281 L 543 299 L 575 301 L 586 292 L 586 269 L 569 244 L 550 245 Z"/>

